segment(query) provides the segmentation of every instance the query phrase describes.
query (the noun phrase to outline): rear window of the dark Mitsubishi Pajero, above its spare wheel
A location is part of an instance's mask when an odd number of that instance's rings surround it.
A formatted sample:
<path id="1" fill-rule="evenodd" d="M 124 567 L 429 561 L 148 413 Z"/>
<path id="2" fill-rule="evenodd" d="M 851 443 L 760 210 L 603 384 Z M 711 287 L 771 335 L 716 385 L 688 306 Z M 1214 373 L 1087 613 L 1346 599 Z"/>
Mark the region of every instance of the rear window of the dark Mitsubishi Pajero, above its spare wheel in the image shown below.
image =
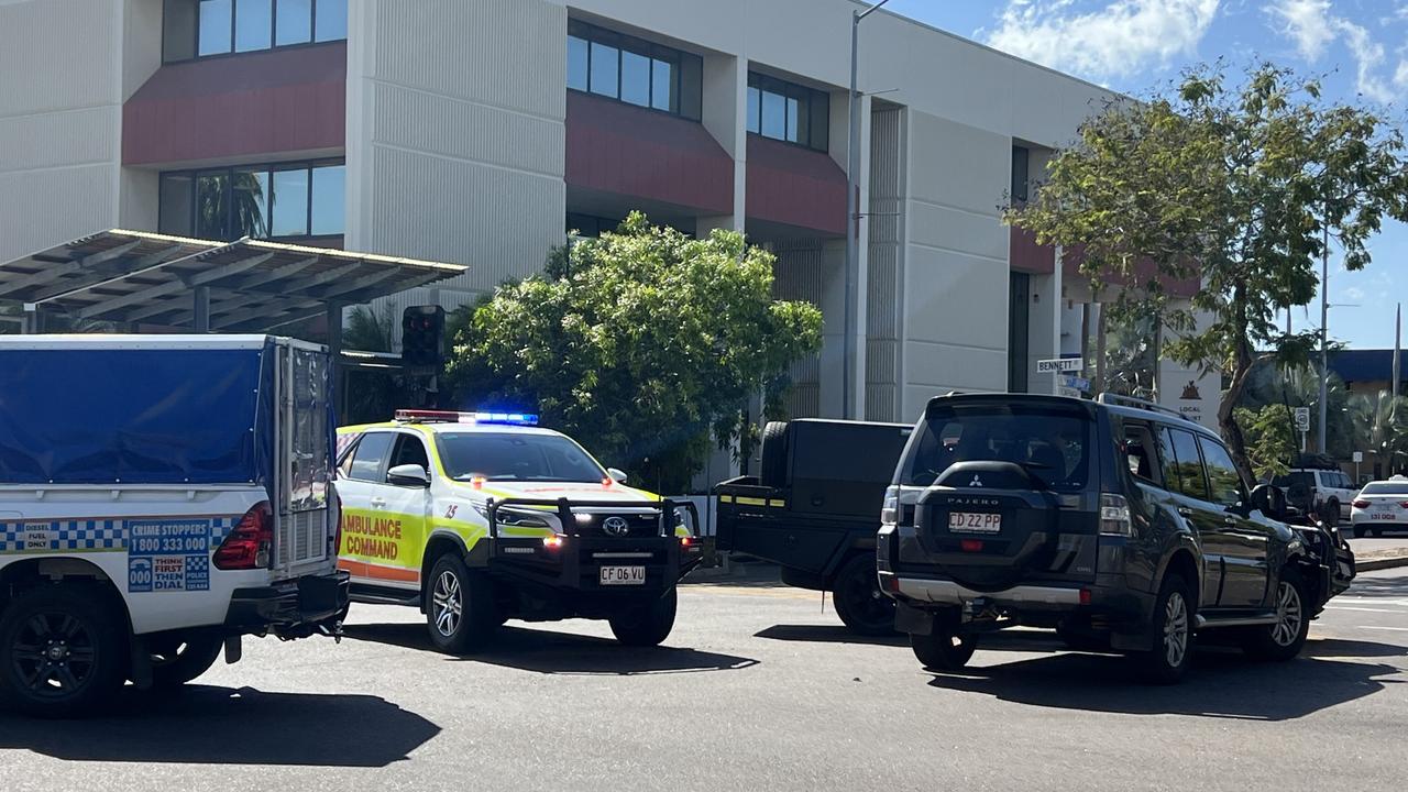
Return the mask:
<path id="1" fill-rule="evenodd" d="M 900 483 L 929 486 L 957 462 L 1014 462 L 1055 490 L 1080 490 L 1090 471 L 1090 419 L 1049 404 L 931 407 L 900 464 Z"/>

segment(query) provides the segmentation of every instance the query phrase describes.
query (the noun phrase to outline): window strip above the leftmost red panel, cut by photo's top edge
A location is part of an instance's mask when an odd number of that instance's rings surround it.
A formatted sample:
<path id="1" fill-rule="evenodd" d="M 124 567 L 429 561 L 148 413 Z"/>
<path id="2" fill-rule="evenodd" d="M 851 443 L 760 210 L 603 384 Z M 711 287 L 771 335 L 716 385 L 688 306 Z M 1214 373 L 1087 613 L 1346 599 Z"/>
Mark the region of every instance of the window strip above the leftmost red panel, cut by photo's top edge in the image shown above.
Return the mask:
<path id="1" fill-rule="evenodd" d="M 163 0 L 166 63 L 348 37 L 348 0 Z"/>

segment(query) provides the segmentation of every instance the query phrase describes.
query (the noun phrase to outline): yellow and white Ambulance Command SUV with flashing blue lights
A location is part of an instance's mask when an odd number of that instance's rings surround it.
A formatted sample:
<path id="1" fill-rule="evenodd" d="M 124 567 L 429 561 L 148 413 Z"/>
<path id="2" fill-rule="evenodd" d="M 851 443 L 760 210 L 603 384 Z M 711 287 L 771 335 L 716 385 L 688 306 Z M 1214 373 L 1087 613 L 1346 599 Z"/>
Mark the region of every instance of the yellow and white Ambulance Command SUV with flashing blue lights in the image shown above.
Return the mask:
<path id="1" fill-rule="evenodd" d="M 535 424 L 398 410 L 338 430 L 338 565 L 352 600 L 420 606 L 431 641 L 455 654 L 507 619 L 605 619 L 624 644 L 663 641 L 674 585 L 700 559 L 693 506 L 625 486 Z"/>

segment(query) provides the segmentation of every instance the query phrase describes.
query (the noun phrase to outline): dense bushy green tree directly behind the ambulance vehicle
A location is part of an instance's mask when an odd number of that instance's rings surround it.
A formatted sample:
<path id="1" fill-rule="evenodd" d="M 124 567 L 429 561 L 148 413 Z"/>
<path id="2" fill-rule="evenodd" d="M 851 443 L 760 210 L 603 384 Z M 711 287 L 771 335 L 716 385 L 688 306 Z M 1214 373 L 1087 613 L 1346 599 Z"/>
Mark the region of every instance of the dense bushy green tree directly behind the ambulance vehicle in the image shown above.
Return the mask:
<path id="1" fill-rule="evenodd" d="M 746 403 L 780 412 L 821 311 L 774 300 L 773 255 L 742 234 L 696 240 L 632 213 L 460 314 L 446 376 L 465 404 L 536 407 L 645 483 L 683 490 L 708 452 L 750 441 Z"/>

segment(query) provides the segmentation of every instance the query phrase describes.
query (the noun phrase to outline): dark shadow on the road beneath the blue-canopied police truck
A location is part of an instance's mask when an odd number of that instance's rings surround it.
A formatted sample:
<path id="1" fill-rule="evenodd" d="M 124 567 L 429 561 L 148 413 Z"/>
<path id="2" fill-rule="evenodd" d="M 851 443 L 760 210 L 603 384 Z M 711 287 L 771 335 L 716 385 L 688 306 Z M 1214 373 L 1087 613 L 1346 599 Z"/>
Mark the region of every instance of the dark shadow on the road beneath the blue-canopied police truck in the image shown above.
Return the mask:
<path id="1" fill-rule="evenodd" d="M 0 748 L 110 762 L 386 767 L 439 731 L 377 696 L 208 685 L 162 695 L 128 686 L 86 720 L 0 714 Z"/>

